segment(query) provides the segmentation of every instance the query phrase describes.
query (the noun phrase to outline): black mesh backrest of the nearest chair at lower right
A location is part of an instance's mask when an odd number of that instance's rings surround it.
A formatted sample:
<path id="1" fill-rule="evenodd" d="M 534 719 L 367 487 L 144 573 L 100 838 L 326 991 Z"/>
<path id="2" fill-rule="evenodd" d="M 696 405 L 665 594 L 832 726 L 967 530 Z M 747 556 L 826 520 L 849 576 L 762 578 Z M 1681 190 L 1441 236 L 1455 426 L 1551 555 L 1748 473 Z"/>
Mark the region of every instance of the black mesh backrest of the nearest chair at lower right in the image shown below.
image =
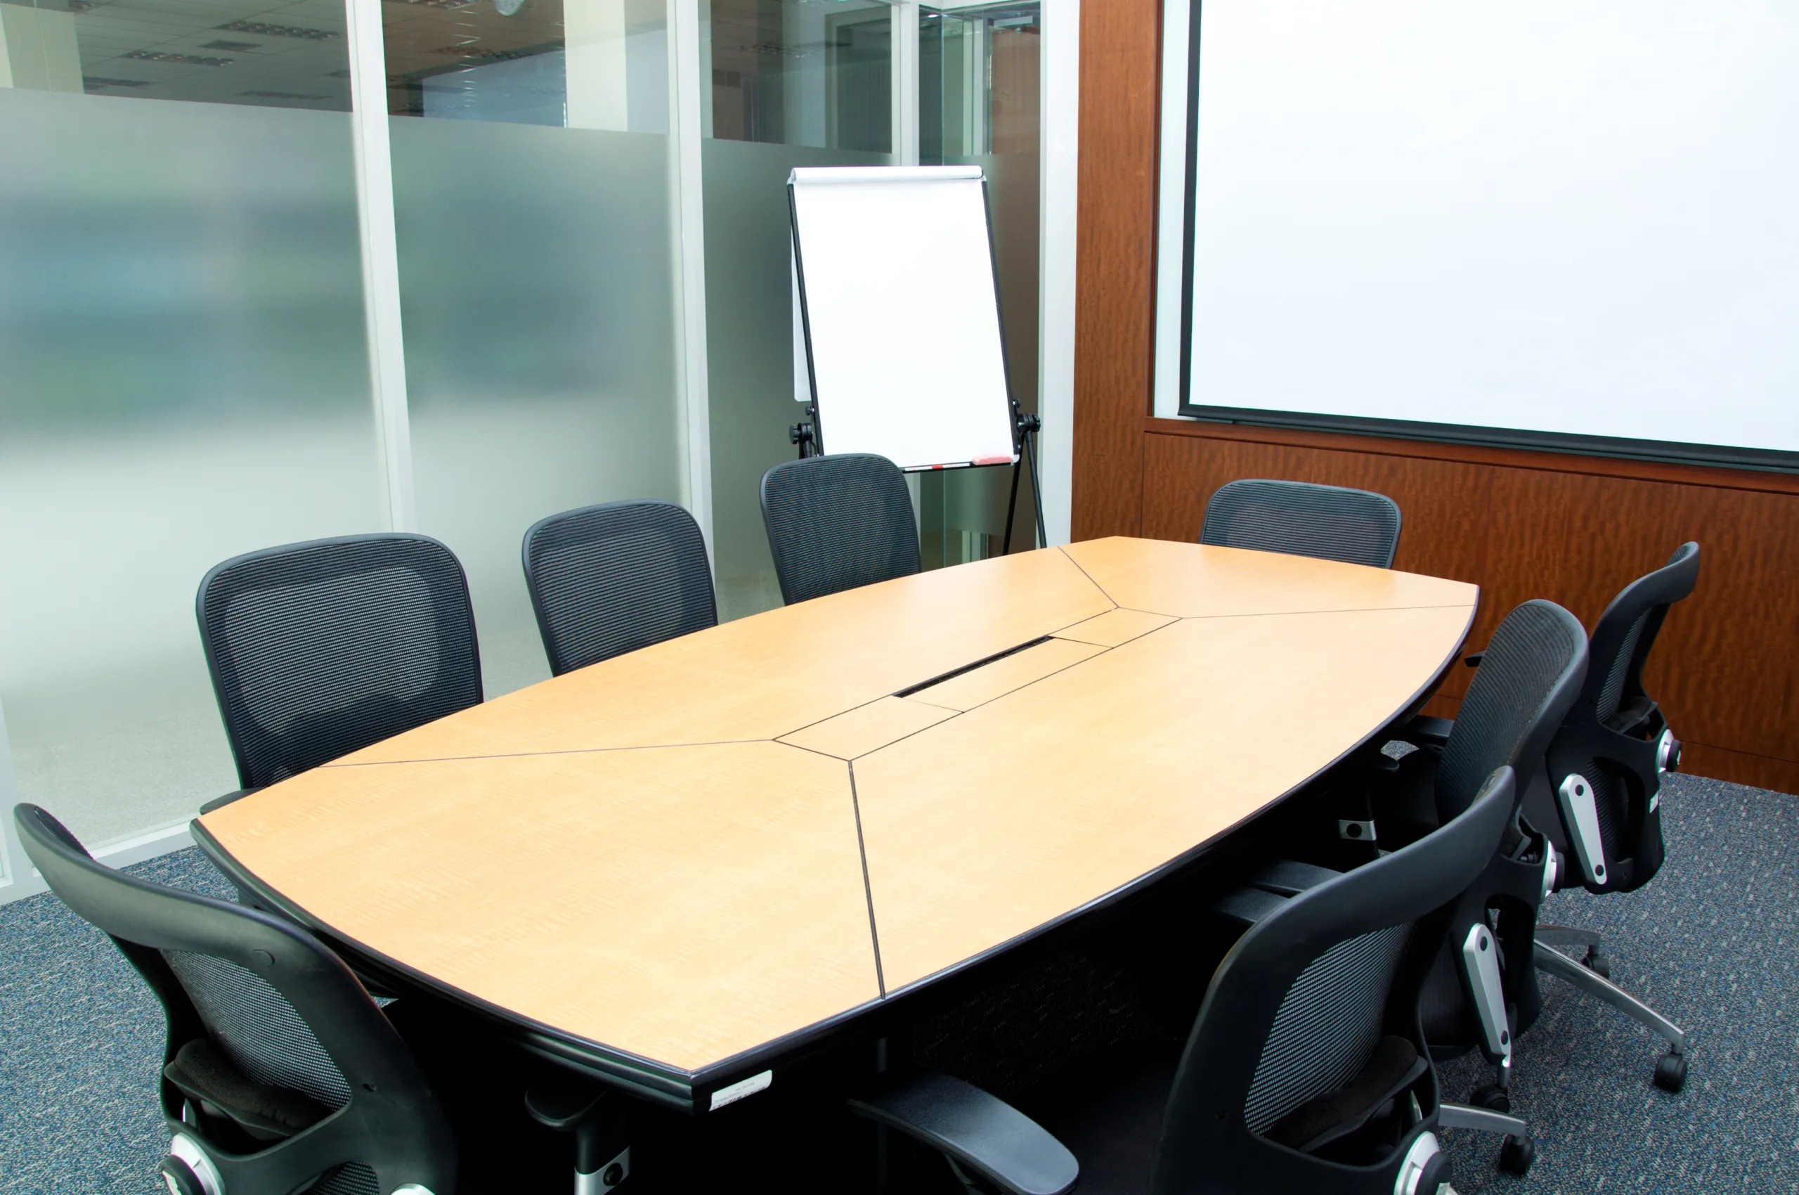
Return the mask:
<path id="1" fill-rule="evenodd" d="M 1493 857 L 1515 801 L 1500 768 L 1418 842 L 1250 911 L 1175 1073 L 1153 1191 L 1394 1190 L 1436 1125 L 1418 1006 L 1443 914 Z"/>

